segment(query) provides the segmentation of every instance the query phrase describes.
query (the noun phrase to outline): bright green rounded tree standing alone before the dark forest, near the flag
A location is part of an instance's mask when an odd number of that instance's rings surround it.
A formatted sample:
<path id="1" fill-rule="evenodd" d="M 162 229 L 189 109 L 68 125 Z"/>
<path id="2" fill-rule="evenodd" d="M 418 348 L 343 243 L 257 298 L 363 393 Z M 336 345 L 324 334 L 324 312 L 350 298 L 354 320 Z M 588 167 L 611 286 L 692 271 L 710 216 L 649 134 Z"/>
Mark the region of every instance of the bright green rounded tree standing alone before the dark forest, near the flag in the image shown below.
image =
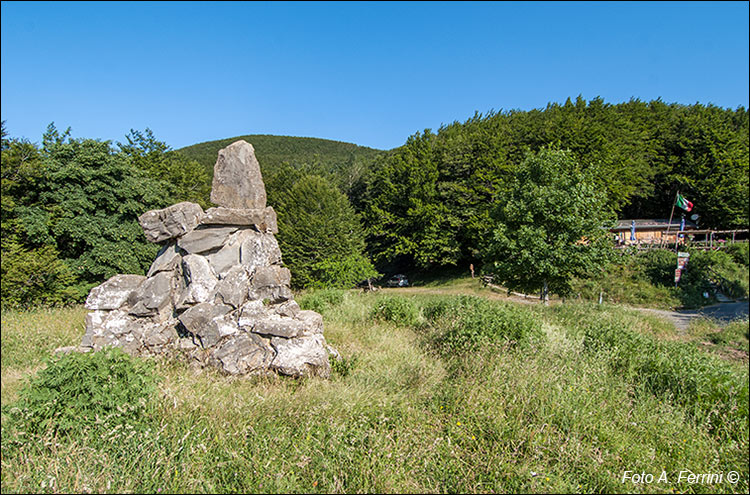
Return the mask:
<path id="1" fill-rule="evenodd" d="M 614 218 L 607 196 L 568 151 L 542 149 L 497 198 L 483 243 L 485 272 L 510 290 L 566 294 L 574 276 L 605 266 Z"/>

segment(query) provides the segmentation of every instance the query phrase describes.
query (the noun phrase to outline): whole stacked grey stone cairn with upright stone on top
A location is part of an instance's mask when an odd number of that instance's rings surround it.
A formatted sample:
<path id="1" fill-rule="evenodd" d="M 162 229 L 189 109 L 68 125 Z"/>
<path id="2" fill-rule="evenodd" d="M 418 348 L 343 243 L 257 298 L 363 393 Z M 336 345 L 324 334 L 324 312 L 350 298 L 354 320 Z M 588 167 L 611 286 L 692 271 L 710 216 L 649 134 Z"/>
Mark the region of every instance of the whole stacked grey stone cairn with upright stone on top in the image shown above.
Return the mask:
<path id="1" fill-rule="evenodd" d="M 138 218 L 163 246 L 145 277 L 115 275 L 91 290 L 81 350 L 177 354 L 231 375 L 328 377 L 337 353 L 323 318 L 292 297 L 251 144 L 219 151 L 211 201 L 219 206 L 183 202 Z"/>

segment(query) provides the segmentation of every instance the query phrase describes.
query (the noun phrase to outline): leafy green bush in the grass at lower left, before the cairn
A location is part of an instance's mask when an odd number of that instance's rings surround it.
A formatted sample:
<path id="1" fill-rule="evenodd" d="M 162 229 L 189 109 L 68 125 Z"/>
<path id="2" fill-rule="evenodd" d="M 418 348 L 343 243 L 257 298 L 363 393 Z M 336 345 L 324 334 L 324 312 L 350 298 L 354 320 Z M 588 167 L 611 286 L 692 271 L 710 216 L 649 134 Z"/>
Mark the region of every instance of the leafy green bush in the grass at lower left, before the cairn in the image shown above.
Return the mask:
<path id="1" fill-rule="evenodd" d="M 132 429 L 146 419 L 154 390 L 151 365 L 120 349 L 73 352 L 52 358 L 3 412 L 28 434 Z"/>

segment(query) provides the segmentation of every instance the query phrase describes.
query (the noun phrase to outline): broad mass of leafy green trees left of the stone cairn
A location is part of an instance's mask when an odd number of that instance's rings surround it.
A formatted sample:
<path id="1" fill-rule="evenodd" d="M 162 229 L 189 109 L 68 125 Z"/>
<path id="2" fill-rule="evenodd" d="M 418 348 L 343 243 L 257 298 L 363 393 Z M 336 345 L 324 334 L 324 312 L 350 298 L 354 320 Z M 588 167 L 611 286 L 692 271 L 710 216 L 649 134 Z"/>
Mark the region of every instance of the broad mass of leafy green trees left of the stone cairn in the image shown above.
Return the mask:
<path id="1" fill-rule="evenodd" d="M 3 143 L 4 303 L 81 300 L 116 273 L 144 273 L 156 254 L 137 218 L 168 206 L 165 183 L 108 141 L 69 136 L 50 124 L 41 149 Z"/>

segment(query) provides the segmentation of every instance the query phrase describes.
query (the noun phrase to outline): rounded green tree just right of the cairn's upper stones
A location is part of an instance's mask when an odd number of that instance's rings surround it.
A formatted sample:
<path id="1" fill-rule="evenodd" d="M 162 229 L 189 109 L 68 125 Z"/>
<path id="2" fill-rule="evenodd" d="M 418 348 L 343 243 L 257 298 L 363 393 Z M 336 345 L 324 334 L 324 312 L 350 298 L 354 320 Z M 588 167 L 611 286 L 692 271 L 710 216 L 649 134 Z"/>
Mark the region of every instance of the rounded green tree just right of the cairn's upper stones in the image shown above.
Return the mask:
<path id="1" fill-rule="evenodd" d="M 303 175 L 277 190 L 279 244 L 295 287 L 352 287 L 377 276 L 358 215 L 328 181 Z"/>

